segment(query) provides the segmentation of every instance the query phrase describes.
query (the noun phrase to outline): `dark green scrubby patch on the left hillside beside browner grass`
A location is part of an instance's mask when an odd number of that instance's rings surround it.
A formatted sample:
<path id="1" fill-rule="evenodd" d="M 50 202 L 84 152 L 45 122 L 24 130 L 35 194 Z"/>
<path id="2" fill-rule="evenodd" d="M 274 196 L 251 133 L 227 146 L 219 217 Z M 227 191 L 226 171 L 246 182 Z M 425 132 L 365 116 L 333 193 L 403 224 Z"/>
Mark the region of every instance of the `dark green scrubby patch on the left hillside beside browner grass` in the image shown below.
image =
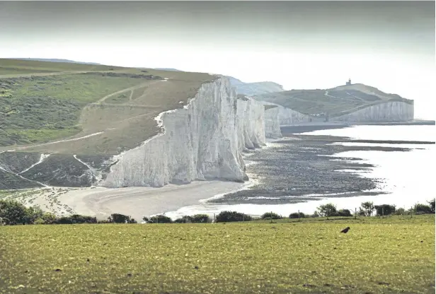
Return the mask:
<path id="1" fill-rule="evenodd" d="M 84 74 L 0 78 L 0 146 L 73 136 L 88 103 L 141 82 Z"/>

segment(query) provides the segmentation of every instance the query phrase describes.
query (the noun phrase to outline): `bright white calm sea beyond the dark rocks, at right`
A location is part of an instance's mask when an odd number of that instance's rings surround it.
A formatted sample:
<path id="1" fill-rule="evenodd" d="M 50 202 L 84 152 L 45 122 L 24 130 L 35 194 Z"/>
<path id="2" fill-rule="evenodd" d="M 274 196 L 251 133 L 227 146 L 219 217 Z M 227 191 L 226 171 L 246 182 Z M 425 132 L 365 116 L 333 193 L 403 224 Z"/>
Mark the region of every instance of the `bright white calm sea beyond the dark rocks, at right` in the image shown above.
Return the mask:
<path id="1" fill-rule="evenodd" d="M 382 141 L 435 141 L 435 126 L 355 126 L 345 129 L 328 129 L 304 133 L 308 135 L 348 136 L 352 139 L 382 140 Z M 274 143 L 272 143 L 274 144 Z M 348 151 L 332 156 L 362 158 L 362 163 L 374 165 L 369 171 L 359 171 L 362 176 L 383 179 L 374 189 L 375 192 L 389 192 L 372 196 L 357 196 L 343 198 L 325 198 L 306 201 L 297 204 L 234 204 L 220 205 L 200 203 L 195 206 L 180 208 L 178 211 L 167 212 L 172 218 L 195 213 L 219 213 L 231 210 L 259 216 L 273 211 L 284 216 L 294 211 L 314 213 L 320 204 L 333 203 L 338 208 L 348 208 L 354 211 L 363 201 L 373 201 L 374 204 L 396 204 L 397 207 L 410 208 L 416 203 L 425 203 L 435 197 L 435 144 L 390 144 L 390 143 L 343 143 L 353 146 L 392 146 L 413 148 L 408 152 L 383 151 Z M 262 151 L 260 151 L 262 152 Z M 356 172 L 345 170 L 343 172 Z M 247 189 L 249 183 L 243 189 Z M 218 195 L 219 196 L 219 195 Z"/>

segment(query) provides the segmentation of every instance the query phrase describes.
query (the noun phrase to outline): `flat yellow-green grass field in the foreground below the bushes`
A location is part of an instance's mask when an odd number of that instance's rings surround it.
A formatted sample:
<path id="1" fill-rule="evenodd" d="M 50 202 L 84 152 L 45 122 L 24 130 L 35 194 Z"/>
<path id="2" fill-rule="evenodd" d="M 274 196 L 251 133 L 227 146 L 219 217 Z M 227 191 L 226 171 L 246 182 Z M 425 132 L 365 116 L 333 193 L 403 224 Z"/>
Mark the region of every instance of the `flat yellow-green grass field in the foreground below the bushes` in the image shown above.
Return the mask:
<path id="1" fill-rule="evenodd" d="M 435 293 L 435 215 L 0 227 L 0 293 L 305 292 Z"/>

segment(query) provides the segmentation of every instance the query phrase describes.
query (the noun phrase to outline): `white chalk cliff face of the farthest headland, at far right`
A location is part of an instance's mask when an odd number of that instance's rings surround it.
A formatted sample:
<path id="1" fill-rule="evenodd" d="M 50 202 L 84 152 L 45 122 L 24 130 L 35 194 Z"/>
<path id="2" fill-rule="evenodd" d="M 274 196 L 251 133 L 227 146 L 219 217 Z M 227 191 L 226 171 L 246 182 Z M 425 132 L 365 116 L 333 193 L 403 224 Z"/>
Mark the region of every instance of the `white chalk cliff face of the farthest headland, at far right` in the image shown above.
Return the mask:
<path id="1" fill-rule="evenodd" d="M 413 104 L 385 102 L 365 107 L 331 120 L 342 122 L 402 122 L 413 120 Z"/>

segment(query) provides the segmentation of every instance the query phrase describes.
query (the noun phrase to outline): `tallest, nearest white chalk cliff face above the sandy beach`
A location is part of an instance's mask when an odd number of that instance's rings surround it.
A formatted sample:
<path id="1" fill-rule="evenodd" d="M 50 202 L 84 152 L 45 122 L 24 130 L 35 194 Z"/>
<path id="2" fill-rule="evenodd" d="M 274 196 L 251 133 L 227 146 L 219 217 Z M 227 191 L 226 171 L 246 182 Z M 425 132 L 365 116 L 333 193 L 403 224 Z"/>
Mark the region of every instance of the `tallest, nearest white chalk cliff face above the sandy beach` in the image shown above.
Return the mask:
<path id="1" fill-rule="evenodd" d="M 246 109 L 257 109 L 256 105 L 246 104 Z M 237 129 L 241 122 L 237 105 L 236 93 L 226 78 L 203 84 L 184 109 L 164 112 L 157 118 L 164 132 L 115 156 L 113 161 L 117 163 L 100 184 L 161 187 L 193 180 L 246 180 L 239 152 Z M 262 123 L 260 111 L 248 111 L 248 115 L 253 117 L 248 127 Z M 251 142 L 262 143 L 262 136 L 247 133 Z"/>

